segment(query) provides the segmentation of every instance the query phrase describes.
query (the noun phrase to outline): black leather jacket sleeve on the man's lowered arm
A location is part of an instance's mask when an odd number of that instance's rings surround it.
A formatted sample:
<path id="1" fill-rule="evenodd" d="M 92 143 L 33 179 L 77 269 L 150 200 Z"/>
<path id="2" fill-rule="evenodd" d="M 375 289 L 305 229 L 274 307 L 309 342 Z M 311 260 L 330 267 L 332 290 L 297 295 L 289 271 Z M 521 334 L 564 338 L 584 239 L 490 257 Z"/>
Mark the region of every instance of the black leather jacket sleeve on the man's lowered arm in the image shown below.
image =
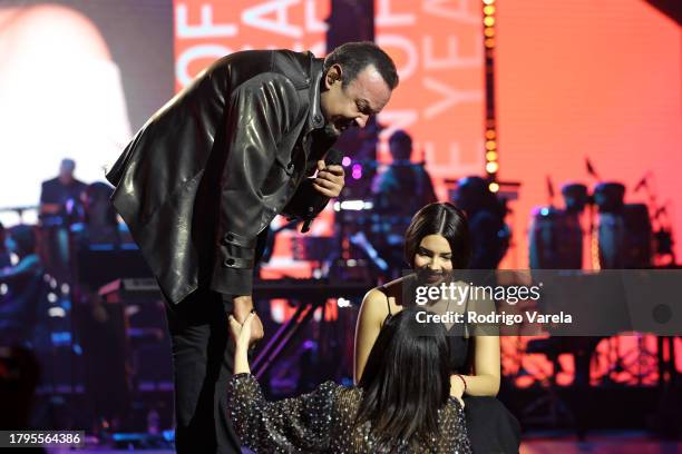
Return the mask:
<path id="1" fill-rule="evenodd" d="M 280 141 L 295 122 L 294 86 L 266 73 L 233 91 L 226 115 L 227 159 L 221 179 L 221 208 L 211 288 L 228 295 L 251 295 L 259 233 L 276 215 L 263 186 L 288 184 L 281 165 L 290 149 Z M 283 147 L 285 148 L 285 147 Z M 264 226 L 263 226 L 264 224 Z"/>

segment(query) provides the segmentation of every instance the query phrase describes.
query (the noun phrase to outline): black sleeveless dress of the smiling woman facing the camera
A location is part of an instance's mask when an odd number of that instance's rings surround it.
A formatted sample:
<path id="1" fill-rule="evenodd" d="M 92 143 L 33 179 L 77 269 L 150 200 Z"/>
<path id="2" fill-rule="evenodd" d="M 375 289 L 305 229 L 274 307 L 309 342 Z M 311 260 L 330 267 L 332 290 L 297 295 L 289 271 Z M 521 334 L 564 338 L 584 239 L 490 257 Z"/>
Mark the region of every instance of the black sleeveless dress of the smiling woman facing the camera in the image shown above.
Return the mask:
<path id="1" fill-rule="evenodd" d="M 379 288 L 384 295 L 384 288 Z M 393 314 L 386 299 L 389 314 Z M 468 300 L 467 300 L 468 305 Z M 466 310 L 466 308 L 465 308 Z M 452 374 L 469 375 L 472 364 L 474 343 L 465 336 L 466 324 L 455 324 L 448 330 L 449 364 Z M 520 424 L 507 407 L 494 396 L 464 396 L 467 431 L 475 454 L 518 453 Z"/>

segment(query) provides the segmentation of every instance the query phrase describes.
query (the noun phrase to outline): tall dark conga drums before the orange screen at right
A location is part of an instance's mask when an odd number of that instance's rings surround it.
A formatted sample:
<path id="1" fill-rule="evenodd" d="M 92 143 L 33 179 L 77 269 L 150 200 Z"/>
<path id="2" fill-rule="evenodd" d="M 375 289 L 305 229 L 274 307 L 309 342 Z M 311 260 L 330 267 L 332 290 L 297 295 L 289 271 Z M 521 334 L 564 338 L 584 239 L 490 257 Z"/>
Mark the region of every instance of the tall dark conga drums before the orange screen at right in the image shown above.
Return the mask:
<path id="1" fill-rule="evenodd" d="M 635 193 L 644 186 L 639 184 Z M 592 194 L 587 186 L 571 182 L 562 187 L 562 196 L 565 208 L 544 206 L 533 211 L 532 269 L 583 268 L 585 236 L 588 268 L 647 269 L 675 263 L 665 206 L 659 207 L 651 191 L 649 204 L 625 204 L 625 185 L 621 182 L 597 182 Z M 581 223 L 585 211 L 587 229 Z"/>

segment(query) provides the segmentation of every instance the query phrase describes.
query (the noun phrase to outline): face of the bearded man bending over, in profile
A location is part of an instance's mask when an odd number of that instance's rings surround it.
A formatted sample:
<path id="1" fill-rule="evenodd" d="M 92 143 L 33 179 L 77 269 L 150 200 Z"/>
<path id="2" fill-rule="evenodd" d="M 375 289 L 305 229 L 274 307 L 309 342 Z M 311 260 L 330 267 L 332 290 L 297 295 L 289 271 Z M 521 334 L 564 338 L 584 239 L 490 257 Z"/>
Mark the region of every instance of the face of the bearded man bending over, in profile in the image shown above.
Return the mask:
<path id="1" fill-rule="evenodd" d="M 369 117 L 379 114 L 391 98 L 391 89 L 373 66 L 360 71 L 345 88 L 341 75 L 338 65 L 329 69 L 324 76 L 327 90 L 320 100 L 327 132 L 335 137 L 351 126 L 364 128 Z"/>

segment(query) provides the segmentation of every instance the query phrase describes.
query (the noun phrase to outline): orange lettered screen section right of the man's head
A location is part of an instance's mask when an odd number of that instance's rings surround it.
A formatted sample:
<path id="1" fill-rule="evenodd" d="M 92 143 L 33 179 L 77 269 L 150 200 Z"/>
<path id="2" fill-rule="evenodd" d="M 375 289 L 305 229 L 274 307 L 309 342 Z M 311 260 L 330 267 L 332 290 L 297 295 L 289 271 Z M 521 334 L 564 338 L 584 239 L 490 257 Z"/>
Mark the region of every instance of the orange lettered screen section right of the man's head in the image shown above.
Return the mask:
<path id="1" fill-rule="evenodd" d="M 440 199 L 444 179 L 483 170 L 484 57 L 479 0 L 374 2 L 376 41 L 396 60 L 400 86 L 379 121 L 413 135 Z M 386 140 L 379 160 L 390 162 Z"/>

